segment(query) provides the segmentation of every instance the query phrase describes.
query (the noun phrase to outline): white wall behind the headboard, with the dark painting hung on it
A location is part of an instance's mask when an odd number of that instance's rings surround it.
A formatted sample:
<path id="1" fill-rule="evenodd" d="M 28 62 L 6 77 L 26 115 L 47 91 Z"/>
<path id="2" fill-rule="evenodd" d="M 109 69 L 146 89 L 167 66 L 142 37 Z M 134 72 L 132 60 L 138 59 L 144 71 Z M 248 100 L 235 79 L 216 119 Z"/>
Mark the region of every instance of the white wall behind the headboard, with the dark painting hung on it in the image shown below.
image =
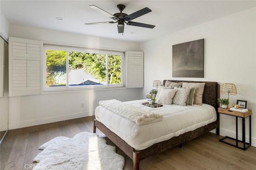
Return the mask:
<path id="1" fill-rule="evenodd" d="M 204 38 L 204 78 L 172 78 L 172 45 Z M 216 81 L 236 84 L 236 100 L 252 109 L 252 145 L 256 146 L 256 8 L 210 21 L 141 44 L 144 51 L 144 90 L 153 80 Z M 221 94 L 220 98 L 228 98 Z M 220 115 L 220 135 L 235 137 L 235 117 Z M 248 139 L 248 119 L 246 119 Z M 239 119 L 239 136 L 242 133 Z"/>

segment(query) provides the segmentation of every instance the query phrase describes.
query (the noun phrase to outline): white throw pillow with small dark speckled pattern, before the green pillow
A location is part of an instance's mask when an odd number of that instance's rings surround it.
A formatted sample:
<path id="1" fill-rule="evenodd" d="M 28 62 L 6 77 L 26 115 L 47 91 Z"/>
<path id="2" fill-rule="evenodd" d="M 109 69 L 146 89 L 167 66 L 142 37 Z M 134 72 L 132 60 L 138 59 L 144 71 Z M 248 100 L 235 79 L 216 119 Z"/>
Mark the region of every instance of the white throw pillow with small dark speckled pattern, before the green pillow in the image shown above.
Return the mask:
<path id="1" fill-rule="evenodd" d="M 177 89 L 177 92 L 174 98 L 172 99 L 172 104 L 186 106 L 186 101 L 188 98 L 188 94 L 190 93 L 190 88 L 174 87 L 174 89 Z"/>

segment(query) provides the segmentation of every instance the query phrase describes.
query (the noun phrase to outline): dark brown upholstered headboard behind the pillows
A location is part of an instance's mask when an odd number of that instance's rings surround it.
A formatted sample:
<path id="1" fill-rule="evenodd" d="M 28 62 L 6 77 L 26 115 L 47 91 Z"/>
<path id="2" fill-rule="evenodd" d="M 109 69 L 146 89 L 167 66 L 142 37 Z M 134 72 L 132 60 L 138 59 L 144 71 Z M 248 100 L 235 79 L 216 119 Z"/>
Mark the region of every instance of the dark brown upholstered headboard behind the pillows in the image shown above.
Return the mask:
<path id="1" fill-rule="evenodd" d="M 217 82 L 200 82 L 186 80 L 169 80 L 171 82 L 205 83 L 203 93 L 203 103 L 213 106 L 218 111 L 218 98 L 220 97 L 220 85 Z M 164 80 L 163 84 L 165 84 Z"/>

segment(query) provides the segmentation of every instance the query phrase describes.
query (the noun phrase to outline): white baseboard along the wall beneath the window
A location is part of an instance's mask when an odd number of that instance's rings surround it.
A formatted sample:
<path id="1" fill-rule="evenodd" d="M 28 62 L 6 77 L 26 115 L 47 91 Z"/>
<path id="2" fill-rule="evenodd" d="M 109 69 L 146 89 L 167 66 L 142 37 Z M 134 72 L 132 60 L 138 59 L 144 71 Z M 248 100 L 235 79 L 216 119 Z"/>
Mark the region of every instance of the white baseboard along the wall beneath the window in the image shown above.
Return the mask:
<path id="1" fill-rule="evenodd" d="M 9 123 L 9 130 L 12 129 L 19 129 L 23 127 L 30 127 L 30 126 L 36 126 L 36 125 L 42 125 L 46 123 L 53 123 L 58 121 L 65 121 L 69 119 L 76 119 L 80 117 L 87 117 L 94 115 L 94 111 L 86 111 L 86 112 L 79 112 L 79 113 L 72 113 L 67 115 L 60 115 L 60 116 L 53 116 L 53 117 L 46 117 L 42 119 L 34 119 L 29 121 L 19 121 L 19 122 L 13 122 Z"/>

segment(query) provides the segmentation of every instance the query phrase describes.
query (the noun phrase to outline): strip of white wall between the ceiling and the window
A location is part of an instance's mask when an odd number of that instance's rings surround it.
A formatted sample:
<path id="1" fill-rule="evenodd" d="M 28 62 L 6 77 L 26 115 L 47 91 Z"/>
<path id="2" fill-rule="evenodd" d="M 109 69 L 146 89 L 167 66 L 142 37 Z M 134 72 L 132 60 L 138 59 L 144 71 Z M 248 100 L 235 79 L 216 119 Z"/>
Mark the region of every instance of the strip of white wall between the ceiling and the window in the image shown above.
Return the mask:
<path id="1" fill-rule="evenodd" d="M 9 36 L 44 41 L 44 44 L 68 45 L 74 47 L 106 49 L 123 52 L 139 50 L 138 43 L 105 39 L 100 37 L 90 37 L 80 34 L 52 31 L 47 29 L 23 27 L 13 24 L 10 24 Z"/>

